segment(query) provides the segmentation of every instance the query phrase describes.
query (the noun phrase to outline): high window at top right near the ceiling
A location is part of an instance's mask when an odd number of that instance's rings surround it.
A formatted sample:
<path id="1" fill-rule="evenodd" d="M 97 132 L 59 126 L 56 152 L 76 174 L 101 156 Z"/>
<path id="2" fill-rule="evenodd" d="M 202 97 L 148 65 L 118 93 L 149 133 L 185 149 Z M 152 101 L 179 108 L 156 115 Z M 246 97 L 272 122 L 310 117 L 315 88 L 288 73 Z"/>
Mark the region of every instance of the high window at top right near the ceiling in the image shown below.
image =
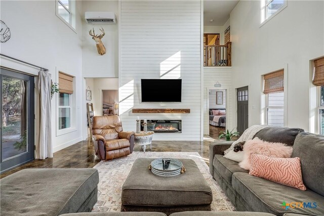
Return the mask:
<path id="1" fill-rule="evenodd" d="M 287 0 L 261 0 L 261 23 L 287 7 Z"/>

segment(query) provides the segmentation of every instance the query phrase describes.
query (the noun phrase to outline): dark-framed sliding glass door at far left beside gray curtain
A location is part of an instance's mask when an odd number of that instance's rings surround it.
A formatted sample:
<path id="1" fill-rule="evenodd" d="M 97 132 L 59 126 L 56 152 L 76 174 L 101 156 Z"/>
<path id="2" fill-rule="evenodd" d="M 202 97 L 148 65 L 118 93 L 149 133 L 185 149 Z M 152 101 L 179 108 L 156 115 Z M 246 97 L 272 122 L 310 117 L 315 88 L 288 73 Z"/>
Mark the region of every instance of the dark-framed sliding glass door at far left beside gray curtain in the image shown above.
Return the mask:
<path id="1" fill-rule="evenodd" d="M 34 77 L 1 68 L 0 171 L 34 159 Z"/>

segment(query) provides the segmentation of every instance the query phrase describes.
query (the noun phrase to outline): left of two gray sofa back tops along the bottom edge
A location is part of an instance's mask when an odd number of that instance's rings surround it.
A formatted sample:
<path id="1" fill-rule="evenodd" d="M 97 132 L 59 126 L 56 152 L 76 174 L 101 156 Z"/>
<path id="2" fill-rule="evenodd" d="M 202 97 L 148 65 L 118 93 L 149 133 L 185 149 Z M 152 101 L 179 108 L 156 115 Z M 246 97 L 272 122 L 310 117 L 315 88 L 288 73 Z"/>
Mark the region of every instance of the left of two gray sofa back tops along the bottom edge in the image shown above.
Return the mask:
<path id="1" fill-rule="evenodd" d="M 161 212 L 82 212 L 82 213 L 69 213 L 61 214 L 60 216 L 166 216 L 165 213 Z"/>

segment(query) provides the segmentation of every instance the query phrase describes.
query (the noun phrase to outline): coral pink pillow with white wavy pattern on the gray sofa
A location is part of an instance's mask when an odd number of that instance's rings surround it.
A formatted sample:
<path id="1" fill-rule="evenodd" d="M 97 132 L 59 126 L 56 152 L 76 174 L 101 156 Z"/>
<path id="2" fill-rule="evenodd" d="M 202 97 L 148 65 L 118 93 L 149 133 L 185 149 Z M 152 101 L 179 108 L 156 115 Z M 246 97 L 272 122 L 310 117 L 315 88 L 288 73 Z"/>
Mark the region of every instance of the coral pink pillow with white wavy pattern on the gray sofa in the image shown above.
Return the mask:
<path id="1" fill-rule="evenodd" d="M 282 185 L 287 185 L 305 191 L 303 184 L 300 158 L 275 158 L 265 155 L 251 155 L 249 174 Z"/>

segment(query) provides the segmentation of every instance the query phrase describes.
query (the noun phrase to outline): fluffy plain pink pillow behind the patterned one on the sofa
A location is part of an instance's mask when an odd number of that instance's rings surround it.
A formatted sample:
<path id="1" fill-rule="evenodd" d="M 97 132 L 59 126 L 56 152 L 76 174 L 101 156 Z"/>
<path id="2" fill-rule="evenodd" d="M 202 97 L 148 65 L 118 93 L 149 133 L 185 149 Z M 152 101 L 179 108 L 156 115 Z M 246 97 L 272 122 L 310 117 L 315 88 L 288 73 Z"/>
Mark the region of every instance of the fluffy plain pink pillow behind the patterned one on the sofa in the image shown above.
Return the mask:
<path id="1" fill-rule="evenodd" d="M 248 140 L 243 147 L 243 160 L 238 165 L 244 169 L 251 167 L 251 154 L 261 154 L 269 157 L 290 157 L 293 152 L 292 146 L 284 143 L 269 143 L 259 138 Z"/>

